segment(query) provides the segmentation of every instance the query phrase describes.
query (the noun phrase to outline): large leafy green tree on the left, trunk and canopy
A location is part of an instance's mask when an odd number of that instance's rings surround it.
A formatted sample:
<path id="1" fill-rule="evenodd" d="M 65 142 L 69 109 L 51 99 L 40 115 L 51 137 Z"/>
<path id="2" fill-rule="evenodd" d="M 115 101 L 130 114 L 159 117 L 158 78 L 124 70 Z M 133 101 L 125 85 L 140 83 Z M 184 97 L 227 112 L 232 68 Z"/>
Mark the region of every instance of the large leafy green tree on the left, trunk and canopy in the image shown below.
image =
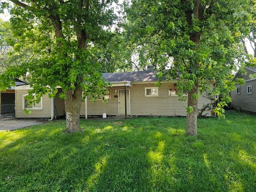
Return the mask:
<path id="1" fill-rule="evenodd" d="M 67 132 L 81 130 L 79 115 L 85 95 L 98 97 L 106 91 L 98 58 L 107 44 L 116 15 L 115 0 L 10 0 L 11 22 L 20 42 L 38 44 L 33 60 L 10 67 L 0 85 L 29 73 L 35 101 L 46 93 L 54 97 L 61 86 L 65 99 Z M 6 4 L 5 4 L 6 5 Z M 44 38 L 41 38 L 43 35 Z"/>

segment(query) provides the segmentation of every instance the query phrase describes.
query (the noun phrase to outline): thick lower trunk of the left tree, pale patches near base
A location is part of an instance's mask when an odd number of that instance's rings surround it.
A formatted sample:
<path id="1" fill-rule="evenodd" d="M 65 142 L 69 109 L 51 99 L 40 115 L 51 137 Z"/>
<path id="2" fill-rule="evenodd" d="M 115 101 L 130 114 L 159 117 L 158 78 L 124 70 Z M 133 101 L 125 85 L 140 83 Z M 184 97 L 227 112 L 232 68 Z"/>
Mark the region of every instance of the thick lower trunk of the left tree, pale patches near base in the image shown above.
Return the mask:
<path id="1" fill-rule="evenodd" d="M 79 123 L 83 96 L 82 92 L 82 87 L 77 87 L 76 90 L 69 90 L 66 93 L 65 111 L 67 127 L 65 132 L 74 133 L 82 131 Z"/>

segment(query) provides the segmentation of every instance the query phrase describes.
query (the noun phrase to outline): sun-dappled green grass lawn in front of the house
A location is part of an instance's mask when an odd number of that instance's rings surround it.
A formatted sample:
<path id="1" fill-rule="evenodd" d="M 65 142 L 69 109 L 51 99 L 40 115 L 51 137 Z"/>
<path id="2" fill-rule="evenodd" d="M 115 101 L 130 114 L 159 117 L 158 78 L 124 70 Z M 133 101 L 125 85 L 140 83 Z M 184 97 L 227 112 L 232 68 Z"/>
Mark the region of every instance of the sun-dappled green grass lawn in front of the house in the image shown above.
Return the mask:
<path id="1" fill-rule="evenodd" d="M 256 116 L 65 121 L 0 133 L 0 191 L 256 191 Z"/>

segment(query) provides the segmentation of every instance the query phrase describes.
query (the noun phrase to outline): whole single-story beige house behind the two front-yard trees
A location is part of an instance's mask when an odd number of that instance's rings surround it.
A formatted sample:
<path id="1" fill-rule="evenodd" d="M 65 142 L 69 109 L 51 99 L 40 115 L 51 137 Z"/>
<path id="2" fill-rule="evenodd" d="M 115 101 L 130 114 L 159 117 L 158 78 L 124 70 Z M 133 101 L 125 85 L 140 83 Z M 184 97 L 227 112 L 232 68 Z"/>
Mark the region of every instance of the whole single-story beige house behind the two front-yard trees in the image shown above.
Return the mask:
<path id="1" fill-rule="evenodd" d="M 162 86 L 157 87 L 156 74 L 149 68 L 147 71 L 134 71 L 127 73 L 105 73 L 102 75 L 106 81 L 111 82 L 109 95 L 103 99 L 108 102 L 91 102 L 89 99 L 82 102 L 81 116 L 102 115 L 110 116 L 186 116 L 187 101 L 179 101 L 177 93 L 177 81 L 163 81 Z M 29 105 L 26 100 L 29 85 L 17 86 L 16 91 L 16 117 L 42 117 L 53 118 L 53 116 L 65 115 L 65 102 L 58 95 L 50 99 L 48 95 L 42 97 L 41 102 Z M 126 107 L 125 107 L 126 90 Z M 198 109 L 212 102 L 206 97 L 199 97 Z M 26 114 L 24 109 L 31 109 Z M 204 115 L 212 116 L 212 111 L 204 111 Z"/>

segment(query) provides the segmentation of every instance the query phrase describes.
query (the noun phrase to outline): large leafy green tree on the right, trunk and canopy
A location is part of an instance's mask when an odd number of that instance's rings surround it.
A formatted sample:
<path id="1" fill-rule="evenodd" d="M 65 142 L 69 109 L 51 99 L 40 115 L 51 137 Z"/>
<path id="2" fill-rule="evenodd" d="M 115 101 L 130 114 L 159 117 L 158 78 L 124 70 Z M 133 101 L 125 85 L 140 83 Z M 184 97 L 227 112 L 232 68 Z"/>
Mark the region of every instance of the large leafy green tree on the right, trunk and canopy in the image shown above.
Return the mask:
<path id="1" fill-rule="evenodd" d="M 244 65 L 241 39 L 250 21 L 248 2 L 134 0 L 127 5 L 125 31 L 131 44 L 147 49 L 142 59 L 157 68 L 159 77 L 178 79 L 178 89 L 188 92 L 189 135 L 197 134 L 200 94 L 222 95 L 214 109 L 218 115 L 230 101 L 231 71 L 235 63 Z"/>

